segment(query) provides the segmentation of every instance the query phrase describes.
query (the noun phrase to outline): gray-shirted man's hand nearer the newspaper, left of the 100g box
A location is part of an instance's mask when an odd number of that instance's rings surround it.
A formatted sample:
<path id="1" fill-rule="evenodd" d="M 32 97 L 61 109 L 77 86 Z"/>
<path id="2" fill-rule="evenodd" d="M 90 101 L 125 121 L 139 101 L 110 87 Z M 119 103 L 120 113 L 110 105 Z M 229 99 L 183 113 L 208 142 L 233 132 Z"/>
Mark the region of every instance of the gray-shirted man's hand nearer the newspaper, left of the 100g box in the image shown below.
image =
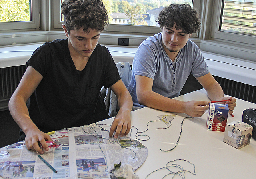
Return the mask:
<path id="1" fill-rule="evenodd" d="M 184 113 L 191 117 L 201 117 L 209 108 L 207 101 L 188 101 L 184 103 Z"/>

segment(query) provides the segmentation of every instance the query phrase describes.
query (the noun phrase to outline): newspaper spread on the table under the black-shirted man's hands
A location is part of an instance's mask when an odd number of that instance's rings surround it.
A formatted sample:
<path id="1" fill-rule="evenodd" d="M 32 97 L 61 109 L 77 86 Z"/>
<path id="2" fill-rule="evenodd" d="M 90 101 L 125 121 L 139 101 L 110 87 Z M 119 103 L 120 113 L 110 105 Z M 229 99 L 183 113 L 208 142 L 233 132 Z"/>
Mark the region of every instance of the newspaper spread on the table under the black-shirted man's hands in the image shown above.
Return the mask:
<path id="1" fill-rule="evenodd" d="M 60 147 L 41 156 L 56 171 L 53 172 L 35 151 L 27 150 L 24 141 L 0 149 L 0 178 L 9 179 L 103 179 L 110 178 L 114 164 L 122 163 L 122 177 L 138 179 L 132 172 L 144 163 L 148 149 L 130 137 L 108 137 L 102 127 L 74 127 L 50 133 Z M 129 177 L 132 176 L 132 177 Z"/>

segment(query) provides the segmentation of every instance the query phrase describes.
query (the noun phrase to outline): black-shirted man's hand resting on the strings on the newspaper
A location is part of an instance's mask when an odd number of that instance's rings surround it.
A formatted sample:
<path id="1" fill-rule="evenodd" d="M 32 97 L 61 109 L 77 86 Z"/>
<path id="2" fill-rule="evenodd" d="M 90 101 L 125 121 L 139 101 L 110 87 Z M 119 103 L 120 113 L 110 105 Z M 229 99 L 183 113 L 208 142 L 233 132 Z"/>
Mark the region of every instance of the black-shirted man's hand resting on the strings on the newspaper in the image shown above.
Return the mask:
<path id="1" fill-rule="evenodd" d="M 109 137 L 113 136 L 114 131 L 116 132 L 114 135 L 115 138 L 118 138 L 118 135 L 120 137 L 123 137 L 124 135 L 127 135 L 130 132 L 130 129 L 131 129 L 130 111 L 129 110 L 121 111 L 120 109 L 110 128 Z"/>

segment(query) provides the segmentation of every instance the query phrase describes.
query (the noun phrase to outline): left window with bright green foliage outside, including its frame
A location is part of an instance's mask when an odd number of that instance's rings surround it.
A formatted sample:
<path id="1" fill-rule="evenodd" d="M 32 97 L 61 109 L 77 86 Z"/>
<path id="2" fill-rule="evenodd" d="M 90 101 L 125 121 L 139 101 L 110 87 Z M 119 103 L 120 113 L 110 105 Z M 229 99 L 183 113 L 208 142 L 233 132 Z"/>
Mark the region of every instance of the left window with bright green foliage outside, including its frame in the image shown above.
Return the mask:
<path id="1" fill-rule="evenodd" d="M 0 0 L 0 30 L 40 28 L 38 0 Z"/>

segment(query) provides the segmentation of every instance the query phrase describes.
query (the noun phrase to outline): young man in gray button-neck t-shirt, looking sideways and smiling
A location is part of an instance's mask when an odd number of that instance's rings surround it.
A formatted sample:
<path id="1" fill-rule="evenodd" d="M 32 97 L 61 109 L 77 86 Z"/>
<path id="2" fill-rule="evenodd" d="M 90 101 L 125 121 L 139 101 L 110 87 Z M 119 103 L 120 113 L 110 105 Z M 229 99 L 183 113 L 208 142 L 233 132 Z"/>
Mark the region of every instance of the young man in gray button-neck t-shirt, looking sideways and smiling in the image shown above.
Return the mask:
<path id="1" fill-rule="evenodd" d="M 236 99 L 223 97 L 223 90 L 210 74 L 204 57 L 188 38 L 200 28 L 196 10 L 190 5 L 171 4 L 156 20 L 162 32 L 140 44 L 133 60 L 132 80 L 128 90 L 134 107 L 152 107 L 163 111 L 186 113 L 200 117 L 208 109 L 208 101 L 178 101 L 189 74 L 202 84 L 211 100 L 226 102 L 233 113 Z"/>

